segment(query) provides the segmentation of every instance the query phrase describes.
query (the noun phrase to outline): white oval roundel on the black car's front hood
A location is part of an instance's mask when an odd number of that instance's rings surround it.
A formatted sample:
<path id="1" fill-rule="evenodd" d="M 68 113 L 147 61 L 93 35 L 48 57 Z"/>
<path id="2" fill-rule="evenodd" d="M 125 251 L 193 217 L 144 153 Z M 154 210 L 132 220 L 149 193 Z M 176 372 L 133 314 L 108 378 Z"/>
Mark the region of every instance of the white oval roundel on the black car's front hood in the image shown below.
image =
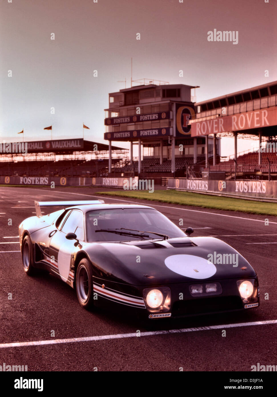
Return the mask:
<path id="1" fill-rule="evenodd" d="M 205 279 L 216 273 L 216 266 L 213 263 L 195 255 L 171 255 L 164 260 L 164 263 L 172 272 L 189 278 Z"/>

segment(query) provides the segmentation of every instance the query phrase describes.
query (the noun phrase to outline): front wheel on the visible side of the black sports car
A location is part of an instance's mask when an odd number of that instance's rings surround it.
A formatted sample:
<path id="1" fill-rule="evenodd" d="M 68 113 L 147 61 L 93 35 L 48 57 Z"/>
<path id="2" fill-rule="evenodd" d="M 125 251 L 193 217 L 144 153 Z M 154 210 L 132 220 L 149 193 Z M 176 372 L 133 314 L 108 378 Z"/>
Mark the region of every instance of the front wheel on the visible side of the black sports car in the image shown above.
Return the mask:
<path id="1" fill-rule="evenodd" d="M 76 272 L 76 292 L 78 301 L 85 309 L 93 307 L 93 280 L 92 267 L 88 259 L 83 258 Z"/>

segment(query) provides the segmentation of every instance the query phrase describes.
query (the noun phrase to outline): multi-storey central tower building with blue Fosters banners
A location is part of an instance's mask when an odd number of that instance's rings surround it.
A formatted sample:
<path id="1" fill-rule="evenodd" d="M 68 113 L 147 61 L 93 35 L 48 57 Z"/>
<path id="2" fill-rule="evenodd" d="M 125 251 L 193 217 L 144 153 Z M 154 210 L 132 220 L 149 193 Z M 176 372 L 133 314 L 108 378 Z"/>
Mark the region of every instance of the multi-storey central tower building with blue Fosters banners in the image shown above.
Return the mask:
<path id="1" fill-rule="evenodd" d="M 131 164 L 133 145 L 138 144 L 138 172 L 141 158 L 159 158 L 160 164 L 165 158 L 171 160 L 174 172 L 176 158 L 190 159 L 195 164 L 214 153 L 220 155 L 220 139 L 191 137 L 189 121 L 196 115 L 192 88 L 196 87 L 149 84 L 109 93 L 104 139 L 110 146 L 113 141 L 129 141 Z"/>

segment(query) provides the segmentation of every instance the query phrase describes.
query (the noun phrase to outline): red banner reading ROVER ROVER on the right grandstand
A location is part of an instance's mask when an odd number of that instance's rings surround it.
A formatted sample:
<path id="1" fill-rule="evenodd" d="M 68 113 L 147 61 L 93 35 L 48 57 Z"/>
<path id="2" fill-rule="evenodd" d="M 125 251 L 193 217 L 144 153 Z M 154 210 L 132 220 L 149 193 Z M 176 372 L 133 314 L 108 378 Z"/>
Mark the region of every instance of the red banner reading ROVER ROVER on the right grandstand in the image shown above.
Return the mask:
<path id="1" fill-rule="evenodd" d="M 277 125 L 277 106 L 192 123 L 191 136 L 197 137 L 220 132 L 242 131 L 273 125 Z"/>

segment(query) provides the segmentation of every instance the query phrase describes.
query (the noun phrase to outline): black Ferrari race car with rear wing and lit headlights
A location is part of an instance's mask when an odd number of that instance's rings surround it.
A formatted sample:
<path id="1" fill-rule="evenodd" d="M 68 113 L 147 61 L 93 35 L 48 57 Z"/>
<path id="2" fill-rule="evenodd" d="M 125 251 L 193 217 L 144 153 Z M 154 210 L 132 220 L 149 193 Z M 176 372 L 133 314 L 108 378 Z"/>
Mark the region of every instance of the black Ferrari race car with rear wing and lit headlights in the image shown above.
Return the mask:
<path id="1" fill-rule="evenodd" d="M 63 209 L 42 216 L 40 206 Z M 256 272 L 239 252 L 190 237 L 192 228 L 184 233 L 154 208 L 102 200 L 35 207 L 19 225 L 25 273 L 55 274 L 84 308 L 115 305 L 154 319 L 259 306 Z"/>

